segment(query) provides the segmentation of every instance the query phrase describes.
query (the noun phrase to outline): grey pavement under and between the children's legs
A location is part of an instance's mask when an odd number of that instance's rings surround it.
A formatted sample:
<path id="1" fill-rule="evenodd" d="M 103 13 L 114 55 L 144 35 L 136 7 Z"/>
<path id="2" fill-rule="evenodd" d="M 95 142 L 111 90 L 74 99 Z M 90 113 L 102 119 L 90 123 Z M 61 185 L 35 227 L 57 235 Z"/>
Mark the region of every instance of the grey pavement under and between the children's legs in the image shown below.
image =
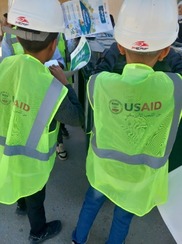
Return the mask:
<path id="1" fill-rule="evenodd" d="M 66 126 L 70 138 L 64 140 L 69 158 L 55 160 L 47 184 L 45 209 L 47 221 L 60 219 L 62 231 L 46 244 L 71 244 L 71 233 L 76 225 L 85 191 L 86 138 L 81 128 Z M 104 244 L 112 220 L 113 204 L 106 202 L 91 229 L 88 244 Z M 28 244 L 29 222 L 26 216 L 15 214 L 16 204 L 0 204 L 0 244 Z M 158 209 L 144 217 L 134 217 L 126 244 L 175 244 Z M 120 244 L 120 243 L 118 243 Z M 180 244 L 180 243 L 178 243 Z"/>

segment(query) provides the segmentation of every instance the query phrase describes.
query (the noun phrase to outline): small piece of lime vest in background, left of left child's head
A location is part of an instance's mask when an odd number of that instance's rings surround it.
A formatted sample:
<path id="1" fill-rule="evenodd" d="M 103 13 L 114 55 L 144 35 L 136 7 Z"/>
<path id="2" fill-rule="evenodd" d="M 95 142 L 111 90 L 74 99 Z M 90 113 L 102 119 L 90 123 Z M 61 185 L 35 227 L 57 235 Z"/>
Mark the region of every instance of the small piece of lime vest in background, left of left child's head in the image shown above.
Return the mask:
<path id="1" fill-rule="evenodd" d="M 9 45 L 12 55 L 23 54 L 24 50 L 22 45 L 17 40 L 16 36 L 13 34 L 5 33 L 4 38 Z"/>

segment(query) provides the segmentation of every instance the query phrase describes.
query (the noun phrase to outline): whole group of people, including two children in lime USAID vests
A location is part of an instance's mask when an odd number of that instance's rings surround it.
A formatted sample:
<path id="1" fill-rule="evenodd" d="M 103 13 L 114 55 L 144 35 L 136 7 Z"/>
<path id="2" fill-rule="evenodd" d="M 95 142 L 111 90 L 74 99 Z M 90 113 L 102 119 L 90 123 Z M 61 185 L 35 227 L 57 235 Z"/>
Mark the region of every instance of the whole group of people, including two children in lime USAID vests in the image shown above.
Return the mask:
<path id="1" fill-rule="evenodd" d="M 116 42 L 91 71 L 89 188 L 73 244 L 87 242 L 106 199 L 115 206 L 107 244 L 124 244 L 133 216 L 167 201 L 182 110 L 182 58 L 172 48 L 179 38 L 180 4 L 124 0 L 114 26 Z M 42 6 L 49 9 L 46 15 Z M 28 216 L 30 243 L 42 243 L 62 228 L 60 220 L 46 221 L 44 201 L 56 152 L 67 159 L 65 125 L 83 127 L 87 115 L 64 74 L 70 60 L 59 1 L 14 0 L 4 18 L 0 203 L 17 202 L 16 213 Z M 51 59 L 58 65 L 46 67 Z"/>

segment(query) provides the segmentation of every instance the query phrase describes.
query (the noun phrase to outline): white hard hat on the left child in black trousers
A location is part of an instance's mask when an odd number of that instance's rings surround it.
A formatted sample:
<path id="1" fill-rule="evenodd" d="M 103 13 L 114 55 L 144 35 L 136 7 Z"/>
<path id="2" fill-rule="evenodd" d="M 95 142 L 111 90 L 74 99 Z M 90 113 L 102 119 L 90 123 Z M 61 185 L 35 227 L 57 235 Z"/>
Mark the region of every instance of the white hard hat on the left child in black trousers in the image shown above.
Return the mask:
<path id="1" fill-rule="evenodd" d="M 41 32 L 64 32 L 58 0 L 9 0 L 8 23 Z"/>

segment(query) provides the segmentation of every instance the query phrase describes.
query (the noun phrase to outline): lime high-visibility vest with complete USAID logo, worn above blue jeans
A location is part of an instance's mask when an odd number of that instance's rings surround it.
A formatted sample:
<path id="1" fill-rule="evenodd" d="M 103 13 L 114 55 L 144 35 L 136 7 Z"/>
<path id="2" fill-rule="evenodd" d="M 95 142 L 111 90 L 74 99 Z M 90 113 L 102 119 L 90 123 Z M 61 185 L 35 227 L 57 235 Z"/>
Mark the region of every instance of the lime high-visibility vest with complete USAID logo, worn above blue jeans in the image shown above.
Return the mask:
<path id="1" fill-rule="evenodd" d="M 143 216 L 167 200 L 168 157 L 182 108 L 181 77 L 128 64 L 122 75 L 92 76 L 87 92 L 94 114 L 88 180 L 116 205 Z"/>

